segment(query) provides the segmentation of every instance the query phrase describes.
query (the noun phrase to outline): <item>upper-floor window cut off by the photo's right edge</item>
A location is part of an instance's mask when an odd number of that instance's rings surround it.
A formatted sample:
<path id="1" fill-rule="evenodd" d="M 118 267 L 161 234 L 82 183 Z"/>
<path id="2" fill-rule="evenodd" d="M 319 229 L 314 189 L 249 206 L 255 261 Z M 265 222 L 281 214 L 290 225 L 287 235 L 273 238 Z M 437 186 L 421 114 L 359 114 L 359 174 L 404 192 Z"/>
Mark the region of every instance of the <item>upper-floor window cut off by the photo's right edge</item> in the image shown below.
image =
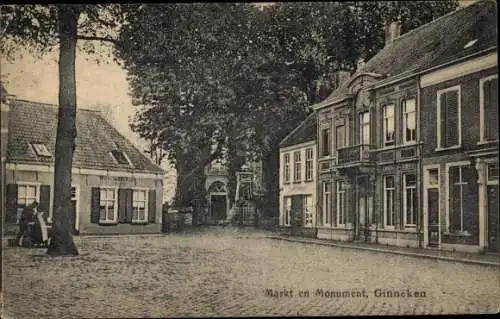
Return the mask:
<path id="1" fill-rule="evenodd" d="M 498 75 L 479 81 L 480 142 L 498 140 Z"/>

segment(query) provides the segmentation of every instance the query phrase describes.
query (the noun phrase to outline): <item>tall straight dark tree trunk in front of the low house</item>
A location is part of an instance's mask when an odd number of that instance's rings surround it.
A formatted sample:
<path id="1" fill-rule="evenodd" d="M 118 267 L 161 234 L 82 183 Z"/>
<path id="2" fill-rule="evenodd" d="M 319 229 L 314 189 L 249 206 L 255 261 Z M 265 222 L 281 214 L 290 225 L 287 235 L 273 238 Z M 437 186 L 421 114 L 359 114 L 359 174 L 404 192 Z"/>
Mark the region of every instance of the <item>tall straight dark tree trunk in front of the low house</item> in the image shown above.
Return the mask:
<path id="1" fill-rule="evenodd" d="M 76 79 L 75 55 L 79 9 L 58 5 L 59 20 L 59 119 L 57 123 L 53 233 L 47 254 L 53 256 L 78 255 L 70 222 L 71 167 L 76 138 Z"/>

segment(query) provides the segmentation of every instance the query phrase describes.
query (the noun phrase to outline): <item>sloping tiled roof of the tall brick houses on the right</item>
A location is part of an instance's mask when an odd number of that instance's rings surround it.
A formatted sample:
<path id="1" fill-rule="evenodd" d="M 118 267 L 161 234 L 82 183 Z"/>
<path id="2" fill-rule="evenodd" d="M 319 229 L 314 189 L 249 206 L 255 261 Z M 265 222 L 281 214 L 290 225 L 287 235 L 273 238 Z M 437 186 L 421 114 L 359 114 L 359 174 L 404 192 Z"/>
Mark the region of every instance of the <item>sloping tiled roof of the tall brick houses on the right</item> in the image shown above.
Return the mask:
<path id="1" fill-rule="evenodd" d="M 477 41 L 464 48 L 473 40 Z M 496 1 L 482 0 L 401 35 L 351 78 L 360 73 L 393 77 L 408 71 L 425 70 L 497 45 Z M 348 83 L 341 85 L 325 101 L 348 93 Z"/>

